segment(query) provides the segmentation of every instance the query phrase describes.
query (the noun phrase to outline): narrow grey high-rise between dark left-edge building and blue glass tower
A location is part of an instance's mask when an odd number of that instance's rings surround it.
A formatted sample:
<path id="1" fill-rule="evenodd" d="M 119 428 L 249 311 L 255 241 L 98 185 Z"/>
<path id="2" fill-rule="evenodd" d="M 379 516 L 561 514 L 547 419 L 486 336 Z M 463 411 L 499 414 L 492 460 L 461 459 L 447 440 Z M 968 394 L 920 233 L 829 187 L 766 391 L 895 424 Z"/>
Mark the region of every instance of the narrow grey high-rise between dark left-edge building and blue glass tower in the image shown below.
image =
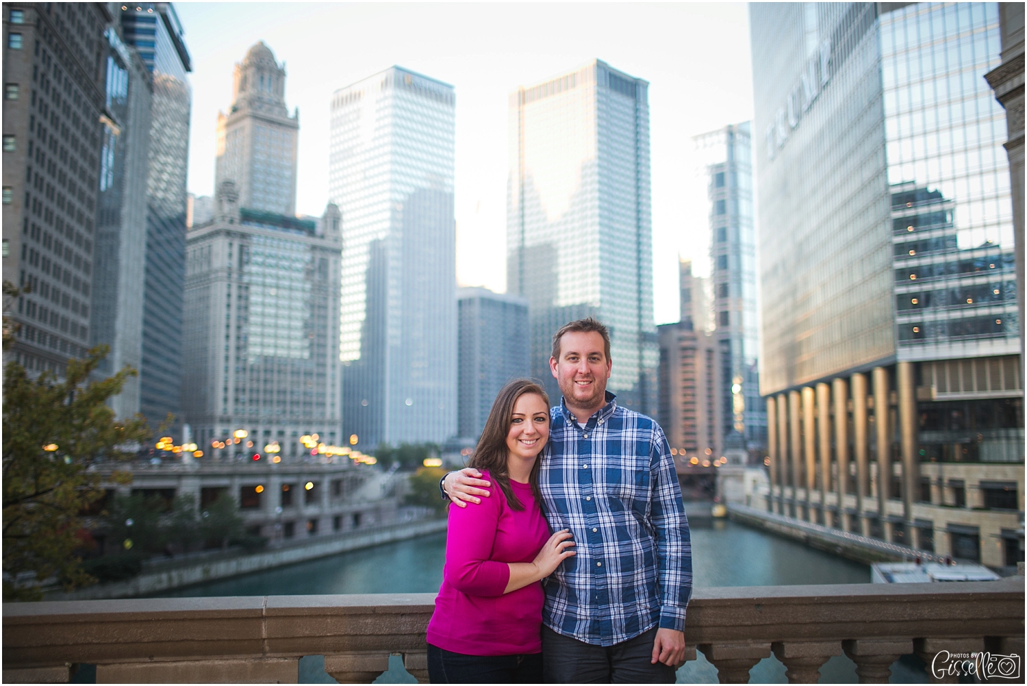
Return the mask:
<path id="1" fill-rule="evenodd" d="M 112 23 L 107 39 L 103 147 L 92 267 L 90 343 L 110 347 L 100 370 L 113 375 L 143 363 L 143 282 L 147 172 L 150 154 L 150 74 Z M 140 410 L 139 376 L 125 379 L 109 403 L 119 418 Z"/>

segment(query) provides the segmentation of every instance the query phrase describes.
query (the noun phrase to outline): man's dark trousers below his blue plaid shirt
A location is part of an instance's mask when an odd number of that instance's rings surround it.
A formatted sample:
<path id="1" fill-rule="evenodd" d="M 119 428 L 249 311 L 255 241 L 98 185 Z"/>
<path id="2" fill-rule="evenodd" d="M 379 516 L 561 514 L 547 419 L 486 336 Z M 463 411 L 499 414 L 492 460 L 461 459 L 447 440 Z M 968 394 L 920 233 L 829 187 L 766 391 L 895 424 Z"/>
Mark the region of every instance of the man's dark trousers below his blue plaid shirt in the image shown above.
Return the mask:
<path id="1" fill-rule="evenodd" d="M 675 669 L 651 663 L 653 626 L 641 636 L 604 648 L 542 626 L 542 681 L 546 684 L 673 684 Z"/>

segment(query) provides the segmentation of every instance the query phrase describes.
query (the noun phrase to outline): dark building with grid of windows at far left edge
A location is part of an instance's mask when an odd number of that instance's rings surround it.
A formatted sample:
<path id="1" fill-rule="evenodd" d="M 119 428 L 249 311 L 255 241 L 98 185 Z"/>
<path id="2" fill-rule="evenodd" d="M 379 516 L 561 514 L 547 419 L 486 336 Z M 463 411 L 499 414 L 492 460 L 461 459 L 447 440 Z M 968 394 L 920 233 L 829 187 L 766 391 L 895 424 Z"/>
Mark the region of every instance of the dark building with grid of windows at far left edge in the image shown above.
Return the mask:
<path id="1" fill-rule="evenodd" d="M 3 5 L 5 357 L 63 374 L 90 344 L 111 17 L 99 3 Z M 7 333 L 5 332 L 5 337 Z"/>

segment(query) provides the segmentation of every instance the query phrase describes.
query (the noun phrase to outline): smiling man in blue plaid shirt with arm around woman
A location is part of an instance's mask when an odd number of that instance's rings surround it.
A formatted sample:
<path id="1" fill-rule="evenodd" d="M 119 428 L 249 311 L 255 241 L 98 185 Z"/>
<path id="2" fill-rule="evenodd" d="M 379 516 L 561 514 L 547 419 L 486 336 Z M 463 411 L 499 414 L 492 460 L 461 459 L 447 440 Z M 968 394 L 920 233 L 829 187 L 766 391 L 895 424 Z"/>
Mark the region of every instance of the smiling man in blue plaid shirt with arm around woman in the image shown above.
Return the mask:
<path id="1" fill-rule="evenodd" d="M 684 661 L 692 568 L 674 460 L 655 421 L 606 392 L 610 336 L 587 318 L 553 337 L 549 369 L 563 401 L 550 410 L 539 486 L 554 530 L 570 529 L 576 557 L 545 583 L 546 683 L 674 683 Z M 476 469 L 443 490 L 466 507 L 489 497 Z"/>

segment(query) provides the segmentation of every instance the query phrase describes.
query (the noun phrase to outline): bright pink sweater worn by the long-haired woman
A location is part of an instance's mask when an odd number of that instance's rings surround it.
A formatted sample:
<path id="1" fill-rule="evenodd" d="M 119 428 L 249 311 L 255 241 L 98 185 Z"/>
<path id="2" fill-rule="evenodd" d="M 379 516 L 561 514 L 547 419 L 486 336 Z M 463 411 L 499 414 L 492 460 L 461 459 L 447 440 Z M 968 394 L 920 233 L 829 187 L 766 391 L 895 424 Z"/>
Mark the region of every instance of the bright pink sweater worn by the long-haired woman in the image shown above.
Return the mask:
<path id="1" fill-rule="evenodd" d="M 489 479 L 485 472 L 483 479 Z M 428 622 L 428 643 L 464 655 L 520 655 L 542 651 L 545 596 L 541 582 L 503 594 L 509 562 L 531 562 L 549 538 L 549 527 L 531 487 L 510 482 L 521 511 L 501 489 L 481 505 L 449 508 L 446 568 Z"/>

